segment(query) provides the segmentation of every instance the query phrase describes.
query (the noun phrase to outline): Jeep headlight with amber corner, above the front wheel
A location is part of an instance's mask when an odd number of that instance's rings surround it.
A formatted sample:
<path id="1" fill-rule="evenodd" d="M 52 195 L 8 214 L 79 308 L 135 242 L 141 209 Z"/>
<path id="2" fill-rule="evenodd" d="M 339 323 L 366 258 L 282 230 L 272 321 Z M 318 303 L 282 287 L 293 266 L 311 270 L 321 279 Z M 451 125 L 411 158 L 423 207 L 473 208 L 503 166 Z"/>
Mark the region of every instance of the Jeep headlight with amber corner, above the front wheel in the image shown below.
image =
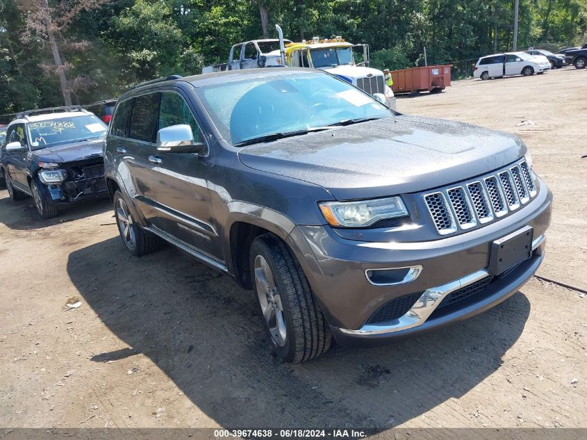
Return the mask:
<path id="1" fill-rule="evenodd" d="M 329 225 L 335 227 L 367 227 L 379 220 L 408 215 L 401 197 L 357 202 L 322 202 L 319 206 Z"/>

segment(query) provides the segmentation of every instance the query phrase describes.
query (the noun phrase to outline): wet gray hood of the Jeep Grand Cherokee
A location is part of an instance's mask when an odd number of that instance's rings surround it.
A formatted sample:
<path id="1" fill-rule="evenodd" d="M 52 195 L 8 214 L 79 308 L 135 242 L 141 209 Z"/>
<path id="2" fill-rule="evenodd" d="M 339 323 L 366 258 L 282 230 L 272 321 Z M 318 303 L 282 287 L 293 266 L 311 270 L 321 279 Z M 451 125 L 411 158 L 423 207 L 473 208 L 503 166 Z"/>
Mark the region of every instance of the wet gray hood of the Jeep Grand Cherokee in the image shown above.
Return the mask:
<path id="1" fill-rule="evenodd" d="M 526 153 L 516 136 L 460 122 L 399 115 L 250 145 L 250 168 L 308 181 L 333 197 L 415 193 L 485 174 Z"/>

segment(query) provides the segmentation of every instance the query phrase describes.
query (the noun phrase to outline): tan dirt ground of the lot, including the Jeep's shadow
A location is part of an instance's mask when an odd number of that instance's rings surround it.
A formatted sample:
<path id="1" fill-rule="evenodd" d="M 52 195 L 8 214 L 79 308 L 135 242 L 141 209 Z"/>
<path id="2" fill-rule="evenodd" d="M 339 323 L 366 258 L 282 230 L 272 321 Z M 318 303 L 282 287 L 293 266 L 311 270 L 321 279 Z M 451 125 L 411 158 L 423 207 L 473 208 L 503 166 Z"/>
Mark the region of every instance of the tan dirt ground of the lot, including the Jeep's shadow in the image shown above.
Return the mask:
<path id="1" fill-rule="evenodd" d="M 586 288 L 587 70 L 397 106 L 520 135 L 554 193 L 539 275 Z M 0 427 L 587 427 L 587 297 L 538 279 L 442 332 L 290 366 L 251 293 L 172 247 L 129 256 L 108 201 L 42 221 L 1 190 L 0 261 Z"/>

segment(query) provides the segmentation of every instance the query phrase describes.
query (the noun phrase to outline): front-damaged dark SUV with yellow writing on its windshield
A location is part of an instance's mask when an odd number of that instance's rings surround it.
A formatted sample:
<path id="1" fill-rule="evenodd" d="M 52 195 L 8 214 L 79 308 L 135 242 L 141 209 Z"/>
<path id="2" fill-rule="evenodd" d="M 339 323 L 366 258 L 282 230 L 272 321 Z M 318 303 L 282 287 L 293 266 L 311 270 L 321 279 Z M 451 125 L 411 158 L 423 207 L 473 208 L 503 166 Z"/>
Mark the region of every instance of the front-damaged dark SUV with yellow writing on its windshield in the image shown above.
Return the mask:
<path id="1" fill-rule="evenodd" d="M 10 197 L 32 196 L 42 218 L 55 217 L 62 204 L 107 197 L 106 129 L 79 107 L 18 113 L 0 150 L 0 174 Z"/>

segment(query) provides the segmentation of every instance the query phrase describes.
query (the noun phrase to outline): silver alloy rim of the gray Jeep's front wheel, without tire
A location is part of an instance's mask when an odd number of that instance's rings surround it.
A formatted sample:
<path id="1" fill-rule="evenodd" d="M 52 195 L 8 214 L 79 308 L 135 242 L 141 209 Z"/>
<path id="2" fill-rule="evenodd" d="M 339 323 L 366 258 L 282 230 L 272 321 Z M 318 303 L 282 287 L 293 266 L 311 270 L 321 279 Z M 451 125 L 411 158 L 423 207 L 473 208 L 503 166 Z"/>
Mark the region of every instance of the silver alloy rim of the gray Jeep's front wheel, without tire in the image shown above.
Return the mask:
<path id="1" fill-rule="evenodd" d="M 255 258 L 255 285 L 263 318 L 269 328 L 271 337 L 277 345 L 286 345 L 287 327 L 286 317 L 283 314 L 281 296 L 273 277 L 273 272 L 263 256 Z"/>

